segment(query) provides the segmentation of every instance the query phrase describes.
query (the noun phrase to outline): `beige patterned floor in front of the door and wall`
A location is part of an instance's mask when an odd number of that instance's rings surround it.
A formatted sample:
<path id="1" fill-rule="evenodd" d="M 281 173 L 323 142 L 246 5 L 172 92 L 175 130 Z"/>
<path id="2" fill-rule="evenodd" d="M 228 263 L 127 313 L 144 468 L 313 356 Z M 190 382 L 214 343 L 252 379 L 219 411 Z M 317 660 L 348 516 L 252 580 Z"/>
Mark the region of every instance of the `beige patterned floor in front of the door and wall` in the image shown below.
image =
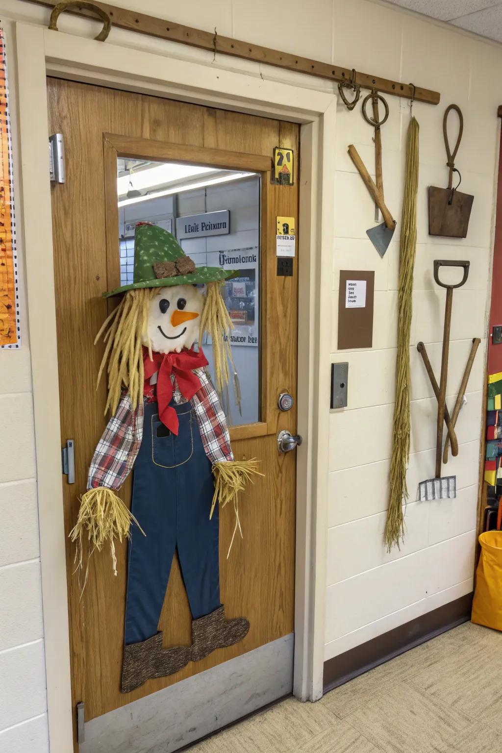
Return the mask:
<path id="1" fill-rule="evenodd" d="M 465 623 L 327 693 L 288 699 L 190 753 L 502 753 L 502 633 Z"/>

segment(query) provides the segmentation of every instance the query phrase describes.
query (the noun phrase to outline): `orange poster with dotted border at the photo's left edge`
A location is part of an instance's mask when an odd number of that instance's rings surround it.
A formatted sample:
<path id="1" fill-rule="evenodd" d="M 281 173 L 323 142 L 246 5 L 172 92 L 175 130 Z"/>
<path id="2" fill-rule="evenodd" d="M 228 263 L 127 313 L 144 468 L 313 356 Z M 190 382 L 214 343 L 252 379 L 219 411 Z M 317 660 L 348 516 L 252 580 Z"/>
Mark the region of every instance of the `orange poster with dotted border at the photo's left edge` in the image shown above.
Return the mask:
<path id="1" fill-rule="evenodd" d="M 20 346 L 19 300 L 17 284 L 16 224 L 12 185 L 11 120 L 8 106 L 8 81 L 5 37 L 0 27 L 0 347 Z"/>

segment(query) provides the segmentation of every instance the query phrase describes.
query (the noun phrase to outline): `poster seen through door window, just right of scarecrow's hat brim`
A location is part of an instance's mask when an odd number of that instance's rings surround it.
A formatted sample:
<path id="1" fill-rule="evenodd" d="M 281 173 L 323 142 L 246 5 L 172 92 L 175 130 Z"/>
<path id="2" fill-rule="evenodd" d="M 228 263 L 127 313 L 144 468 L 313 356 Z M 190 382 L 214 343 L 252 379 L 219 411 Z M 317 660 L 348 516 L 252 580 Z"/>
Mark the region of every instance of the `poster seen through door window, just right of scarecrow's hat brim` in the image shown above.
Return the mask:
<path id="1" fill-rule="evenodd" d="M 231 345 L 257 348 L 259 345 L 258 246 L 209 252 L 207 264 L 224 270 L 236 270 L 236 276 L 225 281 L 222 291 L 225 306 L 233 323 Z"/>

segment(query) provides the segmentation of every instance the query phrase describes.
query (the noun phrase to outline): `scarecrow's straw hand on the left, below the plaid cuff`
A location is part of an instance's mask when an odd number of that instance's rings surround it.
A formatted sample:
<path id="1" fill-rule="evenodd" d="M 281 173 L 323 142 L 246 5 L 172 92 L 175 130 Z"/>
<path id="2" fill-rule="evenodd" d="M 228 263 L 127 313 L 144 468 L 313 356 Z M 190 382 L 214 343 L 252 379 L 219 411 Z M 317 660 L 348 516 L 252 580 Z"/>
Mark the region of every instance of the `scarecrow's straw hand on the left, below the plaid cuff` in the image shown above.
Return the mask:
<path id="1" fill-rule="evenodd" d="M 134 515 L 132 515 L 131 511 L 112 489 L 98 486 L 96 489 L 89 489 L 85 492 L 81 498 L 77 523 L 75 523 L 69 534 L 69 538 L 75 542 L 77 547 L 75 562 L 77 563 L 79 574 L 82 572 L 84 566 L 83 539 L 87 534 L 89 556 L 92 555 L 95 549 L 100 552 L 106 541 L 110 541 L 114 575 L 117 575 L 117 557 L 115 556 L 114 539 L 118 538 L 120 543 L 122 543 L 123 538 L 129 538 L 131 523 L 135 523 L 141 533 L 145 535 Z M 81 585 L 82 592 L 84 592 L 87 584 L 88 574 L 89 560 L 87 560 L 84 584 Z"/>

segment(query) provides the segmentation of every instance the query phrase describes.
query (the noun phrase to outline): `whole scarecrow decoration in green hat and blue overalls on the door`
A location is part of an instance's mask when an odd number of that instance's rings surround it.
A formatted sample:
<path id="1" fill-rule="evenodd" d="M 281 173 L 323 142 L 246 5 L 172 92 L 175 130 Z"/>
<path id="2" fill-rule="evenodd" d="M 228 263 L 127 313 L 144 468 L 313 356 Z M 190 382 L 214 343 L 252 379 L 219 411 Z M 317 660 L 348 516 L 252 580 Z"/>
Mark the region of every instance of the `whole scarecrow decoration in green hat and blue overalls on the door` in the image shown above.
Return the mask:
<path id="1" fill-rule="evenodd" d="M 200 346 L 193 348 L 203 334 L 211 337 L 221 392 L 233 367 L 221 285 L 232 275 L 196 268 L 171 233 L 138 223 L 134 282 L 105 293 L 123 294 L 96 337 L 105 341 L 98 381 L 106 370 L 111 419 L 70 535 L 80 566 L 84 536 L 91 553 L 109 541 L 115 575 L 114 541 L 129 538 L 123 693 L 178 672 L 249 630 L 245 617 L 227 620 L 220 602 L 217 503 L 233 504 L 235 536 L 238 495 L 257 474 L 257 462 L 234 459 L 227 419 L 205 373 L 208 361 Z M 196 287 L 202 283 L 205 294 Z M 133 467 L 129 511 L 116 492 Z M 157 624 L 175 549 L 192 612 L 192 645 L 163 648 Z"/>

